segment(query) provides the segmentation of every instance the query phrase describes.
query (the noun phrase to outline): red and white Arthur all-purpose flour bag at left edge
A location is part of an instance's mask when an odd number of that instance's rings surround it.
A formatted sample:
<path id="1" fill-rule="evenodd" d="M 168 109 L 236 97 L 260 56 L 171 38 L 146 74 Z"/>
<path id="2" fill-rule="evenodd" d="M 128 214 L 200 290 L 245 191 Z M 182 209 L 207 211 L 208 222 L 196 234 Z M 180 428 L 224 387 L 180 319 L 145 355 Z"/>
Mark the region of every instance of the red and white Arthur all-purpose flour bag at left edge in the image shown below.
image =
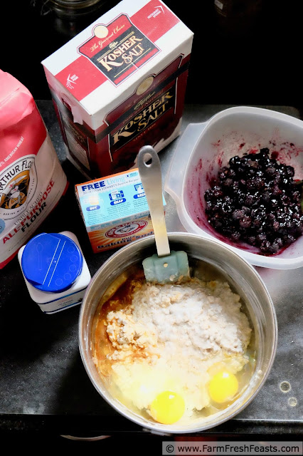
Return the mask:
<path id="1" fill-rule="evenodd" d="M 0 269 L 55 207 L 67 185 L 31 93 L 0 70 Z"/>

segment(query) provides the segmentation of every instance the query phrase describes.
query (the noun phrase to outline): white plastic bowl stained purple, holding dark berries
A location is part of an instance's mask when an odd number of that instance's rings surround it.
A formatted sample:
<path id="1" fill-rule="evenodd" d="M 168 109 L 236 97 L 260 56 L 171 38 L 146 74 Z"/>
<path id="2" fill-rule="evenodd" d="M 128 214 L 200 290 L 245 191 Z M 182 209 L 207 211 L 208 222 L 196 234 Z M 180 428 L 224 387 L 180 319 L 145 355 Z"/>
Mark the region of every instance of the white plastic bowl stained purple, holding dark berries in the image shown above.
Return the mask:
<path id="1" fill-rule="evenodd" d="M 255 266 L 294 269 L 303 266 L 303 237 L 281 253 L 264 256 L 248 244 L 233 244 L 209 224 L 204 212 L 204 192 L 230 157 L 269 147 L 277 160 L 294 167 L 294 178 L 303 179 L 303 122 L 274 110 L 242 106 L 228 108 L 206 123 L 189 124 L 174 152 L 164 190 L 174 198 L 186 231 L 229 244 Z"/>

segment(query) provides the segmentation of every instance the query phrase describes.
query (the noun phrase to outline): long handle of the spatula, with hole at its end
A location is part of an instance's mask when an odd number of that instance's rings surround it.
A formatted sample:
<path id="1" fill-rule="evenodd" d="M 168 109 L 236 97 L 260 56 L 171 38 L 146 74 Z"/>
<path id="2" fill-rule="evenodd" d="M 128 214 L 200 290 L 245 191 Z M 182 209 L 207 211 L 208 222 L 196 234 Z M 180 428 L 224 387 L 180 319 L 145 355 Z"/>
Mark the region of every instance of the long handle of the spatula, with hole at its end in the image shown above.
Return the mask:
<path id="1" fill-rule="evenodd" d="M 158 154 L 151 145 L 145 145 L 139 150 L 138 168 L 154 227 L 156 251 L 158 257 L 165 257 L 170 254 L 170 249 L 164 217 L 161 165 Z"/>

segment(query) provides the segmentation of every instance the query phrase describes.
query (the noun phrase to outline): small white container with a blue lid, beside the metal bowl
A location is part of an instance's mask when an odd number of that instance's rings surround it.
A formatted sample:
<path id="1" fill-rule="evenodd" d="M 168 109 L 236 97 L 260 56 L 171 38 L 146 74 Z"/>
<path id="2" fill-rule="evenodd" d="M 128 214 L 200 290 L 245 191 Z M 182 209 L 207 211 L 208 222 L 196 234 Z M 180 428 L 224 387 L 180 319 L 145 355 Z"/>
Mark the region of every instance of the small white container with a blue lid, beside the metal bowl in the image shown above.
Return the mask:
<path id="1" fill-rule="evenodd" d="M 28 292 L 44 313 L 80 304 L 91 275 L 75 234 L 38 234 L 21 247 L 18 260 Z"/>

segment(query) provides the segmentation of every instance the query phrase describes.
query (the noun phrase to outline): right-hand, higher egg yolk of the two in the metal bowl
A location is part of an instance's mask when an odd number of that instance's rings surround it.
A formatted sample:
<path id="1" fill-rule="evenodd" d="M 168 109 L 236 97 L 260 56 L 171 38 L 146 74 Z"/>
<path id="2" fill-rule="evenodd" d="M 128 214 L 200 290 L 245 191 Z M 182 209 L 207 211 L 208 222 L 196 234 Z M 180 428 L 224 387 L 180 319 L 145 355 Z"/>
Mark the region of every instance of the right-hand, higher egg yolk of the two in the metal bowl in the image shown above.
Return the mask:
<path id="1" fill-rule="evenodd" d="M 208 393 L 216 403 L 224 403 L 233 398 L 238 388 L 238 380 L 233 373 L 220 371 L 209 382 Z"/>

